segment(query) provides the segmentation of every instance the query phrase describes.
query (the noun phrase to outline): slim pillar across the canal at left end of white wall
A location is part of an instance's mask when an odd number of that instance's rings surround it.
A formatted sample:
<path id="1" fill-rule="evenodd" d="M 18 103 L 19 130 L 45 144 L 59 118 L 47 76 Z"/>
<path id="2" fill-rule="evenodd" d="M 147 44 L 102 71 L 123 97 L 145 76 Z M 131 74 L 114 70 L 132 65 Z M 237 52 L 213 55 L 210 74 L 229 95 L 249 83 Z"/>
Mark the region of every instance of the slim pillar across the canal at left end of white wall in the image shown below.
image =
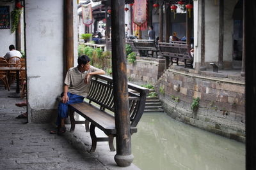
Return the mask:
<path id="1" fill-rule="evenodd" d="M 205 0 L 201 3 L 201 67 L 205 67 Z"/>

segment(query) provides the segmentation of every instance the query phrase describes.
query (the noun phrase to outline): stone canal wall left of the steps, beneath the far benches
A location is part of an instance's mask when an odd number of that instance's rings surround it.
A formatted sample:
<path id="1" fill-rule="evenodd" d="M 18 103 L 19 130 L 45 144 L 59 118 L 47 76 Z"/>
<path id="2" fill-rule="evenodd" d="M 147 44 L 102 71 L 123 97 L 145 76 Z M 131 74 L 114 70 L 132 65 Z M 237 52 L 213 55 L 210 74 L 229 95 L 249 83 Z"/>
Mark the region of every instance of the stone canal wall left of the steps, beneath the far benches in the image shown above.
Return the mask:
<path id="1" fill-rule="evenodd" d="M 129 81 L 155 84 L 163 74 L 165 59 L 137 57 L 134 64 L 127 64 Z"/>

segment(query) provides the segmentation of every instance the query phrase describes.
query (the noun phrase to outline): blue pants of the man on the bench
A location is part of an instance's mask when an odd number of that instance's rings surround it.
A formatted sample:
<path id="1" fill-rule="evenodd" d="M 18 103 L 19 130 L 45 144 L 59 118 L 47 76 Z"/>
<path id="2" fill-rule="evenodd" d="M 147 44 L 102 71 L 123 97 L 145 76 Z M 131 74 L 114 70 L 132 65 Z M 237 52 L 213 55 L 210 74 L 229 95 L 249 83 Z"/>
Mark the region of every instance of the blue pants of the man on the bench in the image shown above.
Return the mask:
<path id="1" fill-rule="evenodd" d="M 61 94 L 61 97 L 63 96 L 63 93 Z M 60 125 L 61 118 L 67 118 L 68 117 L 68 104 L 75 104 L 75 103 L 82 103 L 84 101 L 83 96 L 78 96 L 76 94 L 72 94 L 68 92 L 68 102 L 62 103 L 62 101 L 59 103 L 58 106 L 58 118 L 56 125 Z"/>

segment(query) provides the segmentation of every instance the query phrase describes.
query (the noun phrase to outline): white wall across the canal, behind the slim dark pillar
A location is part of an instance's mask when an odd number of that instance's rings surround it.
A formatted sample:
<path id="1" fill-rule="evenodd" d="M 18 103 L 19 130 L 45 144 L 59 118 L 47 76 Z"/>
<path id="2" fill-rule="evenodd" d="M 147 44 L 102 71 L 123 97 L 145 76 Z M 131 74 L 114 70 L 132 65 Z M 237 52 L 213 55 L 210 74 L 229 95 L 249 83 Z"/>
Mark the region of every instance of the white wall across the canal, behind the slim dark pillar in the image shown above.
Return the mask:
<path id="1" fill-rule="evenodd" d="M 218 62 L 219 4 L 205 1 L 205 62 Z M 224 1 L 224 50 L 223 61 L 232 61 L 233 18 L 236 1 Z"/>

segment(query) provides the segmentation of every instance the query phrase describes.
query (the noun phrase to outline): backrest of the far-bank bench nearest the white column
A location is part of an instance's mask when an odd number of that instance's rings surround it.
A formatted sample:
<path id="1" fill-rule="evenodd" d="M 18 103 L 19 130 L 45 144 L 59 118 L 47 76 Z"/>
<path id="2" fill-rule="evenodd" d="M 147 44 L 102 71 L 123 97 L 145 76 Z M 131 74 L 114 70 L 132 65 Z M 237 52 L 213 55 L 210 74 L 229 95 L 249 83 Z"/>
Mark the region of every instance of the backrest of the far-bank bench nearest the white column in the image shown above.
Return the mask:
<path id="1" fill-rule="evenodd" d="M 158 43 L 162 55 L 167 57 L 184 57 L 193 59 L 190 54 L 189 45 L 178 43 Z"/>

